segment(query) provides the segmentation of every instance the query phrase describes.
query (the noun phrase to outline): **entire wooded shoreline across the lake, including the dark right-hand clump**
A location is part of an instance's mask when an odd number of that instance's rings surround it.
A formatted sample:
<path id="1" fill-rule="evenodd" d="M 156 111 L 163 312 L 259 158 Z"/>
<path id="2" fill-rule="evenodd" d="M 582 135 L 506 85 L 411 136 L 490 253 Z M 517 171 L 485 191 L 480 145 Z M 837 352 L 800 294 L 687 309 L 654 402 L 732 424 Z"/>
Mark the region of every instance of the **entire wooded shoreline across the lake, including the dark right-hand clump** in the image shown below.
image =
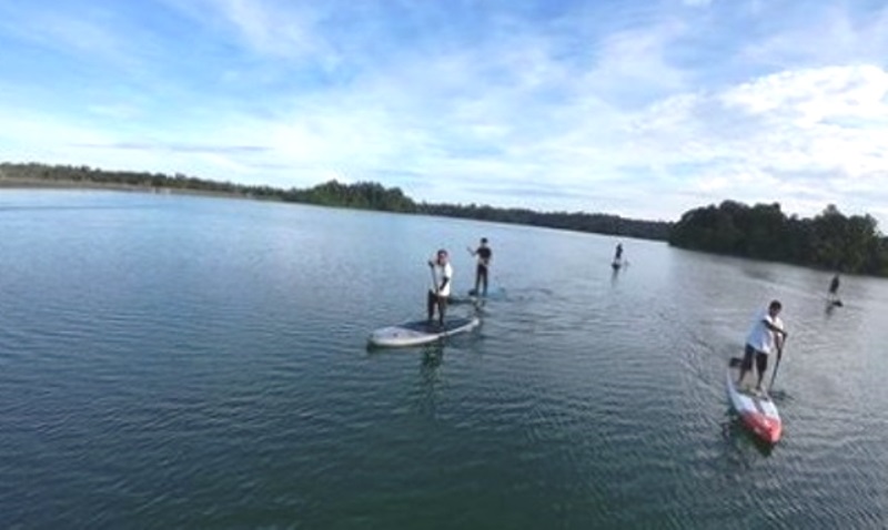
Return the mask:
<path id="1" fill-rule="evenodd" d="M 525 224 L 596 234 L 666 241 L 694 251 L 776 261 L 854 274 L 888 276 L 888 239 L 870 215 L 846 216 L 834 205 L 814 218 L 787 217 L 779 204 L 747 206 L 735 201 L 686 212 L 677 223 L 606 214 L 534 212 L 475 204 L 416 203 L 398 187 L 372 182 L 326 182 L 307 190 L 280 190 L 218 182 L 182 174 L 102 171 L 88 166 L 0 163 L 0 185 L 73 185 L 124 190 L 213 193 L 404 214 L 440 215 Z"/>

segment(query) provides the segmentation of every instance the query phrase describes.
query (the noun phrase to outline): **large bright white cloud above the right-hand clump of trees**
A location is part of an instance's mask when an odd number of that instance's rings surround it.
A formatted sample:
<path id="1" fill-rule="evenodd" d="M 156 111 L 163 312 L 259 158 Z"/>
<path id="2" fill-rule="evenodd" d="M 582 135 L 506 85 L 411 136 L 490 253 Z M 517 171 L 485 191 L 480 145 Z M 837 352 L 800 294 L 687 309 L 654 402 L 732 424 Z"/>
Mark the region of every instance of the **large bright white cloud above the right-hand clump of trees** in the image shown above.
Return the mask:
<path id="1" fill-rule="evenodd" d="M 688 176 L 685 192 L 716 202 L 776 201 L 810 215 L 855 196 L 872 210 L 888 200 L 888 72 L 877 67 L 781 72 L 686 94 L 635 123 L 636 156 Z"/>

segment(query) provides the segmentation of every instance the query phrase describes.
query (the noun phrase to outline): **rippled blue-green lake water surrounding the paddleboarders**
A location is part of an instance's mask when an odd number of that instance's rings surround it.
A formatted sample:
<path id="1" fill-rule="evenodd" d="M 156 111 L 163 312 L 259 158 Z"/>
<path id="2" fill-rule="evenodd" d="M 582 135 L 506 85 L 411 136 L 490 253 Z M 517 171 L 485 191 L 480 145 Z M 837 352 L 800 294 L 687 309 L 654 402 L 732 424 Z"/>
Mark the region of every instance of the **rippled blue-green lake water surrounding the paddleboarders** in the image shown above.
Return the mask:
<path id="1" fill-rule="evenodd" d="M 477 333 L 426 259 L 486 236 Z M 888 283 L 622 239 L 250 201 L 0 192 L 2 528 L 886 528 Z M 726 359 L 784 302 L 784 439 Z M 471 306 L 453 306 L 465 315 Z"/>

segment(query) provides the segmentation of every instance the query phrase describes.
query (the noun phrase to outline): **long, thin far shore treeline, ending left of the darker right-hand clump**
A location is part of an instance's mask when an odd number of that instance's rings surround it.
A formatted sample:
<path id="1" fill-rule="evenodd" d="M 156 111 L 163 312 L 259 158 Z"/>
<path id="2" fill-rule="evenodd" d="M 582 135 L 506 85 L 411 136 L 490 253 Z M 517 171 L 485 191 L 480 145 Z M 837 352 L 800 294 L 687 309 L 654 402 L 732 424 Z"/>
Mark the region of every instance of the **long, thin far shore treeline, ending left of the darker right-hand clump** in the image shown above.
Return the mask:
<path id="1" fill-rule="evenodd" d="M 231 182 L 216 182 L 176 173 L 168 176 L 160 173 L 103 171 L 88 166 L 46 164 L 0 164 L 2 180 L 20 182 L 57 182 L 79 185 L 99 185 L 125 188 L 167 188 L 194 192 L 223 193 L 252 198 L 276 200 L 321 206 L 337 206 L 361 210 L 377 210 L 447 217 L 462 217 L 500 223 L 526 224 L 597 234 L 620 235 L 647 239 L 666 241 L 672 223 L 663 221 L 638 221 L 605 214 L 542 213 L 525 208 L 496 208 L 471 204 L 417 204 L 398 187 L 386 188 L 381 184 L 359 182 L 342 184 L 326 182 L 309 190 L 280 190 L 271 186 L 250 186 Z"/>

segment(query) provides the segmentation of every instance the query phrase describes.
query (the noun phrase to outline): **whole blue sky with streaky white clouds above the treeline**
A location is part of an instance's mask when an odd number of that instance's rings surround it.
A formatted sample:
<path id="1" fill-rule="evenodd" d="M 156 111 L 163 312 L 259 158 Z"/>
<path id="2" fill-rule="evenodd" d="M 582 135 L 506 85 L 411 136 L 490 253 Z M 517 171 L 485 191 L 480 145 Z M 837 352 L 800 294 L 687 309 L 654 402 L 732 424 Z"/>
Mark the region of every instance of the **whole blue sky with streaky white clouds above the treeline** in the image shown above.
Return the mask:
<path id="1" fill-rule="evenodd" d="M 888 0 L 0 0 L 0 161 L 888 232 Z"/>

